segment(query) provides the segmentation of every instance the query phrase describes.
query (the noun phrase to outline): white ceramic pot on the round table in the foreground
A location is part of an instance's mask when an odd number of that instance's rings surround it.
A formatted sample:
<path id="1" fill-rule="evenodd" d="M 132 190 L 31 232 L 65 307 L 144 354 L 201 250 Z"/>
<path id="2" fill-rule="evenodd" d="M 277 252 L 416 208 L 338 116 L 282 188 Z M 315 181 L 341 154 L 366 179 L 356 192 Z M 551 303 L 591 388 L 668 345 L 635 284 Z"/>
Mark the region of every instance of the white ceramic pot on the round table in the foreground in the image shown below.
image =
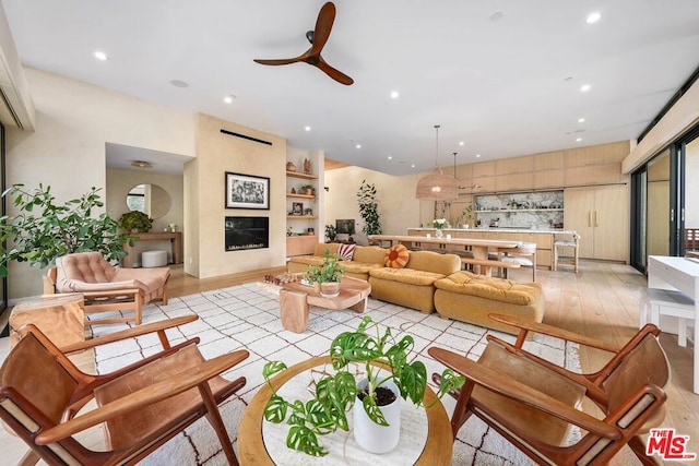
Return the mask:
<path id="1" fill-rule="evenodd" d="M 367 380 L 363 379 L 357 387 L 366 386 Z M 364 450 L 371 453 L 388 453 L 398 445 L 401 434 L 401 396 L 398 386 L 392 381 L 387 382 L 383 386 L 389 387 L 395 393 L 395 402 L 388 406 L 381 406 L 381 413 L 389 422 L 389 426 L 379 426 L 367 416 L 362 406 L 362 402 L 357 398 L 354 405 L 354 438 Z"/>

